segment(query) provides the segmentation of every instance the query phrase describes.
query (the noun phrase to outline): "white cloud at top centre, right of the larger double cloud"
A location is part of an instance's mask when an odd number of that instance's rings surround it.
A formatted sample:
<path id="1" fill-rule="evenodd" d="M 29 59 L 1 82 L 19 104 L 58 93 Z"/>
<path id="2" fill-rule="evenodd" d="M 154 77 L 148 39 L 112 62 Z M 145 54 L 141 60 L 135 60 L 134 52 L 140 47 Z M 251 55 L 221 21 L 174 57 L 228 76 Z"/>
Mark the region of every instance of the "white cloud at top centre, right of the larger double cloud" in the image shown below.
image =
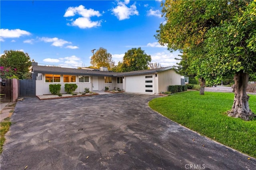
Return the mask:
<path id="1" fill-rule="evenodd" d="M 136 3 L 134 2 L 134 4 L 132 4 L 130 6 L 130 8 L 128 8 L 126 5 L 129 3 L 130 1 L 118 1 L 118 6 L 116 6 L 116 8 L 112 9 L 113 14 L 118 18 L 118 20 L 125 20 L 125 19 L 129 19 L 130 16 L 133 15 L 139 15 L 139 12 L 137 11 L 136 8 Z"/>

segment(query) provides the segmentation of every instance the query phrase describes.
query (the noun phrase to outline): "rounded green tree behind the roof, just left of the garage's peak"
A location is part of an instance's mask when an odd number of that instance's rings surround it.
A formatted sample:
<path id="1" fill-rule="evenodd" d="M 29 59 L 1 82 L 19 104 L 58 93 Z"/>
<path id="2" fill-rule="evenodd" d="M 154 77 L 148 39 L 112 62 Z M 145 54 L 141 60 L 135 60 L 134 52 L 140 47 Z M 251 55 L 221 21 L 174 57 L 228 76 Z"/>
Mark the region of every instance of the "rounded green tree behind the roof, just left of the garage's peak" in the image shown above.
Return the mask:
<path id="1" fill-rule="evenodd" d="M 151 56 L 147 55 L 140 47 L 128 50 L 123 57 L 122 72 L 147 70 Z"/>

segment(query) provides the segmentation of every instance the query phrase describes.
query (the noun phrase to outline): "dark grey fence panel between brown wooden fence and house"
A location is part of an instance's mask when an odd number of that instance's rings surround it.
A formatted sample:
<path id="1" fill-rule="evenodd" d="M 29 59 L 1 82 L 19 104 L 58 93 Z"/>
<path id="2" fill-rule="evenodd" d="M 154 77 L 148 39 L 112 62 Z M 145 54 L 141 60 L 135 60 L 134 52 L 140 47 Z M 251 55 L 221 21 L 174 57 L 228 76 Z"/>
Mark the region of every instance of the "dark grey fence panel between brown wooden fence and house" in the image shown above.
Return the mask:
<path id="1" fill-rule="evenodd" d="M 19 97 L 36 96 L 36 80 L 19 80 Z"/>

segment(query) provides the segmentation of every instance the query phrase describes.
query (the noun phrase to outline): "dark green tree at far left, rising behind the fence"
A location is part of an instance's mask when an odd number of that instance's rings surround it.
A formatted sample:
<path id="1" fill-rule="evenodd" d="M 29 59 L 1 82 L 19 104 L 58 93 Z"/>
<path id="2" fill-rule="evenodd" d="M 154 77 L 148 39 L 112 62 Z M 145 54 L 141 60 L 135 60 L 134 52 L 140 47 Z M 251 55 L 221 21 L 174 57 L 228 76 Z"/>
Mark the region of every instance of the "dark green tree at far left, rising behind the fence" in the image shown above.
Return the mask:
<path id="1" fill-rule="evenodd" d="M 4 55 L 0 57 L 0 65 L 5 68 L 15 70 L 14 75 L 19 79 L 30 78 L 29 67 L 31 61 L 28 53 L 23 51 L 5 50 Z"/>

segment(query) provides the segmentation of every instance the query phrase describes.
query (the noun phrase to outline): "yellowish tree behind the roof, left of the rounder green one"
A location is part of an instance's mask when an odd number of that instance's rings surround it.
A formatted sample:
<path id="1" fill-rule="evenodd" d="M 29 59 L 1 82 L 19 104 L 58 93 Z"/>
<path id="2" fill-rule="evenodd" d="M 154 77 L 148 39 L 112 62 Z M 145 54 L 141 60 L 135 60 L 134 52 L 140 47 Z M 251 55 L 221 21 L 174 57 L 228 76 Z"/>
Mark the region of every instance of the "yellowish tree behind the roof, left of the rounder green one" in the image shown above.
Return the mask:
<path id="1" fill-rule="evenodd" d="M 112 61 L 112 55 L 108 53 L 107 49 L 102 47 L 100 47 L 92 56 L 90 63 L 97 68 L 100 68 L 101 66 L 108 67 L 109 70 L 115 65 L 115 62 Z"/>

